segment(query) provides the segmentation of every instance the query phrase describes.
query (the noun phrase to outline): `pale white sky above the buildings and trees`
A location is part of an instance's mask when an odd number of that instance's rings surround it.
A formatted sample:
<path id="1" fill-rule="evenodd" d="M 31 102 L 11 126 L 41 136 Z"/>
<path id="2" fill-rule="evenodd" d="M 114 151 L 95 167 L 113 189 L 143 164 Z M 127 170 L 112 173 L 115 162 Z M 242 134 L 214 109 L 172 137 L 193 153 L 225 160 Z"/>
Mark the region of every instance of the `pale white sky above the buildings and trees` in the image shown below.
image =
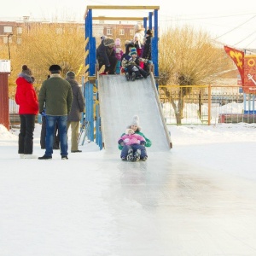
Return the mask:
<path id="1" fill-rule="evenodd" d="M 0 18 L 29 15 L 36 19 L 51 19 L 57 16 L 58 20 L 67 19 L 84 22 L 84 11 L 87 5 L 108 5 L 109 1 L 82 1 L 73 0 L 27 0 L 26 4 L 18 0 L 9 0 L 0 9 Z M 111 1 L 112 5 L 119 5 L 120 1 Z M 141 1 L 141 5 L 155 6 L 154 0 Z M 137 5 L 137 1 L 130 0 L 129 5 Z M 209 32 L 219 45 L 229 45 L 240 49 L 256 49 L 256 3 L 248 0 L 246 3 L 223 1 L 222 3 L 208 2 L 204 0 L 181 0 L 172 3 L 161 1 L 159 4 L 159 21 L 162 28 L 169 26 L 189 25 L 195 29 Z M 134 16 L 148 16 L 148 11 L 131 11 Z M 108 10 L 108 16 L 114 16 L 116 12 Z M 106 11 L 93 15 L 106 15 Z M 121 12 L 119 12 L 121 15 Z M 132 16 L 130 13 L 128 16 Z M 127 15 L 124 15 L 127 16 Z"/>

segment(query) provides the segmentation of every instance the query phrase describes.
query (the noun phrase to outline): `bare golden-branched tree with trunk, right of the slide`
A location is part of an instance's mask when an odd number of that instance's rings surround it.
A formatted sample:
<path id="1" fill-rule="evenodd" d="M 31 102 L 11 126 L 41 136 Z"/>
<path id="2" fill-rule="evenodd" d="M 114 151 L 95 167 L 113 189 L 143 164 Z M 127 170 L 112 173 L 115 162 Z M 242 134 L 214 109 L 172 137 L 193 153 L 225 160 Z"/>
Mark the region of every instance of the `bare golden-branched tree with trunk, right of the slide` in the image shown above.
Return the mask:
<path id="1" fill-rule="evenodd" d="M 229 65 L 224 49 L 214 45 L 206 32 L 195 31 L 189 26 L 170 27 L 160 37 L 159 84 L 211 84 L 217 79 L 216 74 Z M 184 97 L 191 90 L 191 86 L 177 87 L 176 99 L 170 90 L 165 90 L 166 97 L 171 99 L 177 124 L 181 124 L 183 118 Z"/>

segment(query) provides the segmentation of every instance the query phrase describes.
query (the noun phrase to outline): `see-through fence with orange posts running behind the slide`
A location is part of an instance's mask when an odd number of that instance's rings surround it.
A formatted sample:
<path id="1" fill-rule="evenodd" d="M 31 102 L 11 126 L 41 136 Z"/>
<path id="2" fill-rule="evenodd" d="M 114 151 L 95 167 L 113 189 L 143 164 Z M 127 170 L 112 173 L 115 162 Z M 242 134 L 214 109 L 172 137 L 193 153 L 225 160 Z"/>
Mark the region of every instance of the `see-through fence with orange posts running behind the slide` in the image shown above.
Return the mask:
<path id="1" fill-rule="evenodd" d="M 159 85 L 160 102 L 168 125 L 177 124 L 179 106 L 183 106 L 181 125 L 213 125 L 217 123 L 256 123 L 250 95 L 240 92 L 237 85 Z M 254 107 L 253 107 L 254 109 Z M 10 124 L 20 123 L 18 106 L 9 100 Z"/>

